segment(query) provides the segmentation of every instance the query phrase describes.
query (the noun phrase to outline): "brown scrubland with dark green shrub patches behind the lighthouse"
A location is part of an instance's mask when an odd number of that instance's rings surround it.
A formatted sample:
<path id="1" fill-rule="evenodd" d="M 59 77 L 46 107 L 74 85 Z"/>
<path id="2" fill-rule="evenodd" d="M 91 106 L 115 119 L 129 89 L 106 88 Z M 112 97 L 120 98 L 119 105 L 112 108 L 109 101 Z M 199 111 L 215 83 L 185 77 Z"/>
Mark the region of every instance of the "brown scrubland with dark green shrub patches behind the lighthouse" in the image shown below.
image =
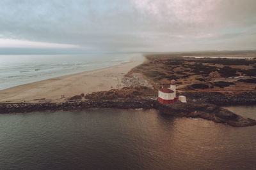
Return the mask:
<path id="1" fill-rule="evenodd" d="M 134 67 L 127 76 L 133 73 L 143 74 L 155 89 L 169 85 L 174 79 L 178 86 L 182 85 L 179 90 L 184 91 L 196 89 L 205 92 L 221 92 L 224 89 L 228 92 L 255 91 L 255 85 L 248 85 L 255 81 L 253 79 L 256 76 L 256 58 L 253 58 L 256 57 L 255 52 L 151 53 L 145 57 L 147 60 L 140 66 Z"/>

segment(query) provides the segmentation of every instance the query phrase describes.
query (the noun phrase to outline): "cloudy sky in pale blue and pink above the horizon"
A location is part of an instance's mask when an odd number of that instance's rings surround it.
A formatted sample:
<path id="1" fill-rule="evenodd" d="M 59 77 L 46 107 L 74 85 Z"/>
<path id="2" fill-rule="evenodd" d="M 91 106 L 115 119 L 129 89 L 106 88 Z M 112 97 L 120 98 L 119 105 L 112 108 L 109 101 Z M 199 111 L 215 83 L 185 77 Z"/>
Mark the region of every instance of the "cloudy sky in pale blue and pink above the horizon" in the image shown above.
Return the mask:
<path id="1" fill-rule="evenodd" d="M 255 50 L 255 0 L 1 0 L 0 53 Z"/>

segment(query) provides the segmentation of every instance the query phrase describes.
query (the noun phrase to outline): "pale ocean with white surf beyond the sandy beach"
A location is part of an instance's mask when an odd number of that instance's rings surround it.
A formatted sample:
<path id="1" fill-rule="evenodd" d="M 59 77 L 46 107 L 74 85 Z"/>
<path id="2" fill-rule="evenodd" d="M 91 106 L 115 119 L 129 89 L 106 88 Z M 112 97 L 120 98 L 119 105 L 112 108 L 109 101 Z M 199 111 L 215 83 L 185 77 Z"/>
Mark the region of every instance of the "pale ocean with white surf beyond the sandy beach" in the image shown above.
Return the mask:
<path id="1" fill-rule="evenodd" d="M 128 62 L 134 53 L 0 55 L 0 90 Z"/>

